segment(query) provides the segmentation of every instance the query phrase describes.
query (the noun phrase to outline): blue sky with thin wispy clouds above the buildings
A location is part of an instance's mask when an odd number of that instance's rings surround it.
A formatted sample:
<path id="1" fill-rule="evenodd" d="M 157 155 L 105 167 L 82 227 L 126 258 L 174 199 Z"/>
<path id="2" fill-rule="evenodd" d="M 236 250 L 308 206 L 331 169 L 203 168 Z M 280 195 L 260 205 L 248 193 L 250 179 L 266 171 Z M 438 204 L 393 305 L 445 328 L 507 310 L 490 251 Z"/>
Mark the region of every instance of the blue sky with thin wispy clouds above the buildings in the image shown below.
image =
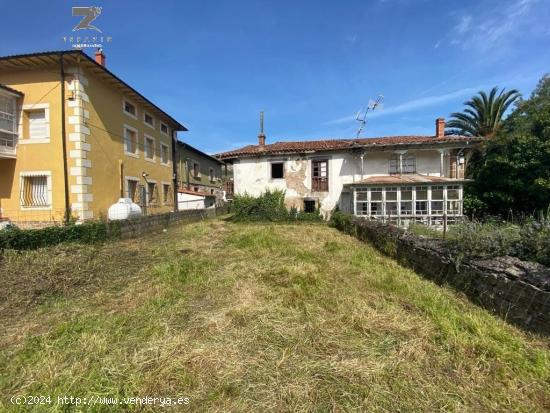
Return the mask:
<path id="1" fill-rule="evenodd" d="M 550 72 L 550 0 L 6 1 L 0 55 L 69 48 L 78 5 L 103 7 L 109 69 L 209 153 L 256 143 L 260 110 L 268 143 L 352 137 L 378 94 L 363 136 L 433 134 L 478 90 Z"/>

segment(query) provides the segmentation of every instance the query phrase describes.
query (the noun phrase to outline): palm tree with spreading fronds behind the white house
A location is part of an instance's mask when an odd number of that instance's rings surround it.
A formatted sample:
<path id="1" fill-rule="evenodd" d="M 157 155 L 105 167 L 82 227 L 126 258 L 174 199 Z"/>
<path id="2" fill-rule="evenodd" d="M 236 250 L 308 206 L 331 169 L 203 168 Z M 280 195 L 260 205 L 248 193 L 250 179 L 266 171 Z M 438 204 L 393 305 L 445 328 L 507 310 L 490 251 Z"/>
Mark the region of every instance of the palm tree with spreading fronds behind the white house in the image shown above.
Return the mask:
<path id="1" fill-rule="evenodd" d="M 492 138 L 498 131 L 502 116 L 506 109 L 514 103 L 521 94 L 512 89 L 505 92 L 494 87 L 489 95 L 478 92 L 478 95 L 464 102 L 463 112 L 451 113 L 452 119 L 447 122 L 448 132 L 466 136 L 483 136 Z"/>

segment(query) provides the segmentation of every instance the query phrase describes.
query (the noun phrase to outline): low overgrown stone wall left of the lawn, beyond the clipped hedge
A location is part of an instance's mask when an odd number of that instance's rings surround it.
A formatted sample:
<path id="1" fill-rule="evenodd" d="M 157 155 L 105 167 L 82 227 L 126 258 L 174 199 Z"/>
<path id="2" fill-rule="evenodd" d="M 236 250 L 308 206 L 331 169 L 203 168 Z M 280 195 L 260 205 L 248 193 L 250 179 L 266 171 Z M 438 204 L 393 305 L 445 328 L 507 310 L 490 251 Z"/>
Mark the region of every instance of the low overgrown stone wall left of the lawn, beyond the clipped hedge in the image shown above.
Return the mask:
<path id="1" fill-rule="evenodd" d="M 123 221 L 112 221 L 109 224 L 109 230 L 116 232 L 116 235 L 120 236 L 120 238 L 132 238 L 151 231 L 165 229 L 172 224 L 200 221 L 226 214 L 227 212 L 228 208 L 224 206 L 147 215 Z"/>

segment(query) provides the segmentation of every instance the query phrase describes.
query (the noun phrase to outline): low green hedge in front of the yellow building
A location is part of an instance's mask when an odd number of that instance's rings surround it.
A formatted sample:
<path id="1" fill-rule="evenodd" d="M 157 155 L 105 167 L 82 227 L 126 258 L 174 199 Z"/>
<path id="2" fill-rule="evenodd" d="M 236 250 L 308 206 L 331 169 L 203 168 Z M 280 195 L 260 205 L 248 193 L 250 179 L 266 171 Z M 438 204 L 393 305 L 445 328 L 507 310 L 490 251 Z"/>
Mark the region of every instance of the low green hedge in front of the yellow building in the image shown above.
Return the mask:
<path id="1" fill-rule="evenodd" d="M 101 243 L 109 238 L 108 225 L 107 222 L 90 222 L 26 230 L 10 227 L 0 231 L 0 250 L 30 250 L 62 242 Z"/>

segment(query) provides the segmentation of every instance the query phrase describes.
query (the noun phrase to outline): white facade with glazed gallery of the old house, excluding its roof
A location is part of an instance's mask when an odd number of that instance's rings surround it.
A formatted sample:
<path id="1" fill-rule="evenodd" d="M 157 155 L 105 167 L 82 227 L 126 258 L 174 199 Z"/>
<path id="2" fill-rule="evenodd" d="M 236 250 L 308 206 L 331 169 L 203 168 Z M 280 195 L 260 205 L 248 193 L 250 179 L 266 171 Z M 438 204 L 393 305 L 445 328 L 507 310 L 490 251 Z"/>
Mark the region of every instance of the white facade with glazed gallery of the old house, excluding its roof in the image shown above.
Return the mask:
<path id="1" fill-rule="evenodd" d="M 446 148 L 367 148 L 241 157 L 233 161 L 235 193 L 258 196 L 268 189 L 279 189 L 285 191 L 287 207 L 304 210 L 308 207 L 306 202 L 311 207 L 314 201 L 315 207 L 325 216 L 338 206 L 356 215 L 399 218 L 399 221 L 401 218 L 419 218 L 428 224 L 438 223 L 444 215 L 462 215 L 462 183 L 469 153 L 469 149 L 450 145 Z M 323 161 L 326 165 L 322 164 Z M 323 183 L 323 190 L 314 190 L 316 184 L 312 175 L 322 173 L 319 172 L 319 162 L 323 170 L 328 169 L 328 182 Z M 273 166 L 280 163 L 283 164 L 282 176 L 281 167 Z M 315 168 L 318 170 L 314 173 Z M 449 200 L 448 187 L 453 197 Z M 405 188 L 403 199 L 401 188 Z M 430 197 L 424 199 L 425 194 L 431 196 L 432 188 L 435 188 L 434 196 L 437 197 L 433 203 Z M 379 200 L 375 199 L 379 192 L 382 205 L 378 205 Z M 444 198 L 439 199 L 440 194 Z M 455 199 L 456 194 L 458 199 Z"/>

